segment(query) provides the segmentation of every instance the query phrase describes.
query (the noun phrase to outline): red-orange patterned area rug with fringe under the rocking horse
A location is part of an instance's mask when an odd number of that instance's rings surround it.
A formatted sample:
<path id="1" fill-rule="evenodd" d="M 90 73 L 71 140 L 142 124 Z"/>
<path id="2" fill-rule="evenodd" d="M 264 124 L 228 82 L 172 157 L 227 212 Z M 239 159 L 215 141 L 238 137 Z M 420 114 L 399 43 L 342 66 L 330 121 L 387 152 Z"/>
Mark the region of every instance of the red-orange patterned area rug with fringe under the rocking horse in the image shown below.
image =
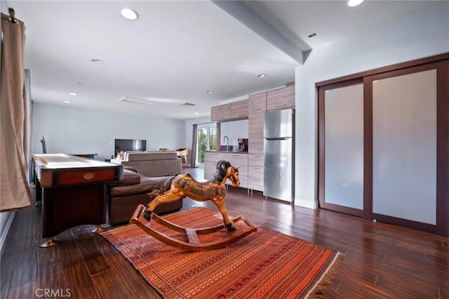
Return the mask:
<path id="1" fill-rule="evenodd" d="M 192 208 L 165 218 L 193 228 L 222 222 L 220 213 L 207 208 Z M 165 232 L 183 238 L 171 230 Z M 337 271 L 340 255 L 266 227 L 257 227 L 257 232 L 227 248 L 201 252 L 164 244 L 137 225 L 102 235 L 163 298 L 321 298 Z M 226 231 L 220 231 L 200 239 L 213 241 L 225 235 Z"/>

